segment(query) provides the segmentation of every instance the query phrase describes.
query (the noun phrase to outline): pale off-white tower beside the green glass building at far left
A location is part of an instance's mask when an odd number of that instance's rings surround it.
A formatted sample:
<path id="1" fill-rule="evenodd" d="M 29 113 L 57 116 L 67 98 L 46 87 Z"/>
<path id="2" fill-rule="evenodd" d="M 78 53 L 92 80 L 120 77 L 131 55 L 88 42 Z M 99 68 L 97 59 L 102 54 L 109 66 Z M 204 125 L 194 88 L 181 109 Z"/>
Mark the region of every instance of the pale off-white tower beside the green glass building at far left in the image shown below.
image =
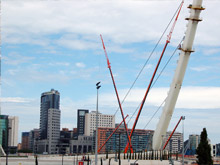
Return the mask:
<path id="1" fill-rule="evenodd" d="M 8 117 L 8 146 L 17 147 L 18 145 L 18 117 Z"/>

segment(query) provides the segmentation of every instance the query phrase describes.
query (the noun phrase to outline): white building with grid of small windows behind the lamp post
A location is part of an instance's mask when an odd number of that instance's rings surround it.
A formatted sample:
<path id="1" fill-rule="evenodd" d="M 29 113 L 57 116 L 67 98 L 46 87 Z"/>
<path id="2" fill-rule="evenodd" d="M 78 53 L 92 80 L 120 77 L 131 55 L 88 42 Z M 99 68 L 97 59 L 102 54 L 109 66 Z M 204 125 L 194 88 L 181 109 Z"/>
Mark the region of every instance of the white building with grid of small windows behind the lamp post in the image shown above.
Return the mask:
<path id="1" fill-rule="evenodd" d="M 115 116 L 98 113 L 98 127 L 115 128 Z M 85 135 L 93 136 L 96 130 L 96 111 L 85 115 Z"/>

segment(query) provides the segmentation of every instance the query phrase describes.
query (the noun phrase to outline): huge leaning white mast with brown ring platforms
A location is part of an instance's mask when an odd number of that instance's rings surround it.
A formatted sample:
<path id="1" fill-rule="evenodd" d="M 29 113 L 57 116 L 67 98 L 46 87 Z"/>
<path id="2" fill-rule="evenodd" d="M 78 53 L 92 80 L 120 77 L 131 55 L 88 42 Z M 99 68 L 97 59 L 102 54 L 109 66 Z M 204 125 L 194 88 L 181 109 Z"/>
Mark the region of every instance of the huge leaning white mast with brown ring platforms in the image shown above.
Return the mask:
<path id="1" fill-rule="evenodd" d="M 202 1 L 203 0 L 193 0 L 193 4 L 189 5 L 188 7 L 190 8 L 190 16 L 189 18 L 186 18 L 186 20 L 189 21 L 187 26 L 188 28 L 186 30 L 185 39 L 180 48 L 181 53 L 179 56 L 173 82 L 170 86 L 170 91 L 168 93 L 159 123 L 157 124 L 157 128 L 154 132 L 154 136 L 153 136 L 154 150 L 159 150 L 161 147 L 162 135 L 166 134 L 167 128 L 169 126 L 174 111 L 174 107 L 176 105 L 176 101 L 179 95 L 180 88 L 182 86 L 189 57 L 191 52 L 193 52 L 192 45 L 195 38 L 197 25 L 198 22 L 201 21 L 199 15 L 201 10 L 204 10 L 204 8 L 202 7 Z"/>

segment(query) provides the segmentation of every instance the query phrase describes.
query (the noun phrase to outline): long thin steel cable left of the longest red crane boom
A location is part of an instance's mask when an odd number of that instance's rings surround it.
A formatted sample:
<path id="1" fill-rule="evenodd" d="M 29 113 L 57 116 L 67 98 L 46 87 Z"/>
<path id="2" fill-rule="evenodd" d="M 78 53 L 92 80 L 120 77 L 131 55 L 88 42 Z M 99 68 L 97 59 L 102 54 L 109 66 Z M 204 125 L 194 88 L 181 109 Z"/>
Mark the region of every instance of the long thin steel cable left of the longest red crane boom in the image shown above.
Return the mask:
<path id="1" fill-rule="evenodd" d="M 183 2 L 183 1 L 182 1 Z M 169 23 L 167 24 L 165 30 L 163 31 L 162 35 L 160 36 L 159 40 L 157 41 L 155 47 L 153 48 L 153 50 L 151 51 L 149 57 L 147 58 L 146 62 L 144 63 L 143 67 L 141 68 L 140 72 L 138 72 L 137 77 L 135 78 L 134 82 L 132 83 L 131 87 L 129 88 L 128 92 L 126 93 L 125 97 L 123 98 L 123 100 L 121 101 L 121 104 L 124 103 L 124 101 L 126 100 L 127 96 L 129 95 L 131 89 L 134 87 L 136 81 L 138 80 L 138 78 L 140 77 L 142 71 L 144 70 L 144 68 L 146 67 L 146 65 L 148 64 L 151 56 L 153 55 L 154 51 L 156 50 L 156 48 L 158 47 L 160 41 L 162 40 L 164 34 L 166 33 L 167 29 L 169 28 L 170 24 L 172 23 L 173 19 L 175 18 L 175 15 L 177 14 L 177 12 L 179 11 L 180 7 L 181 7 L 182 3 L 179 5 L 179 7 L 177 8 L 177 10 L 175 11 L 174 15 L 172 16 L 171 20 L 169 21 Z M 115 114 L 117 114 L 117 112 L 119 111 L 120 107 L 118 107 L 118 109 L 115 111 Z"/>

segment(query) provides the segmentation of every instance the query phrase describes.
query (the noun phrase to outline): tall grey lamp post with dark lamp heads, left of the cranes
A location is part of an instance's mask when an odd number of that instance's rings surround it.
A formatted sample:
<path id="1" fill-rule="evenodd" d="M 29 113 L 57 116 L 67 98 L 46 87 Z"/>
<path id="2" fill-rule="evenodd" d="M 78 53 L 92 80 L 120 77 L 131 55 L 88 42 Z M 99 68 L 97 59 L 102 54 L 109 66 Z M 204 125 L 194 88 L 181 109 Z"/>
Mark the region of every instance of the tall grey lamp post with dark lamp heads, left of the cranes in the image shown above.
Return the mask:
<path id="1" fill-rule="evenodd" d="M 99 85 L 101 82 L 96 83 L 97 89 L 97 103 L 96 103 L 96 135 L 95 135 L 95 165 L 98 164 L 98 101 L 99 101 Z"/>

